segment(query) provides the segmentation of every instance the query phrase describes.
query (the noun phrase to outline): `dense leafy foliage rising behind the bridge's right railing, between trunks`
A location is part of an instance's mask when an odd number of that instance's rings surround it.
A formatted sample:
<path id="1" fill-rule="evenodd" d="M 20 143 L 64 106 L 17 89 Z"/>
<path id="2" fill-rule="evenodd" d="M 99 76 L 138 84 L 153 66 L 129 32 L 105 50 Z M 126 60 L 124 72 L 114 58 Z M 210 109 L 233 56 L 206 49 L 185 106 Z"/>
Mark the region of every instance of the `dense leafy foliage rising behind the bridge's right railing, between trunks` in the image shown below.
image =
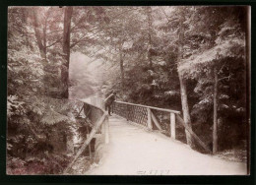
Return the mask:
<path id="1" fill-rule="evenodd" d="M 108 11 L 111 11 L 110 8 Z M 214 6 L 152 7 L 151 49 L 147 11 L 139 7 L 118 9 L 121 15 L 125 11 L 129 11 L 125 19 L 122 16 L 110 19 L 109 28 L 119 33 L 111 35 L 106 31 L 104 34 L 116 41 L 114 44 L 104 42 L 107 48 L 114 51 L 105 55 L 116 54 L 105 59 L 107 79 L 103 80 L 99 90 L 103 90 L 103 94 L 118 92 L 119 98 L 126 101 L 180 110 L 179 72 L 186 79 L 193 129 L 207 143 L 211 143 L 213 68 L 217 67 L 220 149 L 242 144 L 246 137 L 246 9 Z M 130 19 L 133 20 L 132 25 Z M 129 29 L 134 26 L 133 33 L 130 33 Z M 120 28 L 127 29 L 122 31 Z M 183 37 L 179 34 L 181 28 L 184 30 Z M 121 49 L 123 72 L 119 67 L 118 40 L 125 40 Z M 182 45 L 181 62 L 177 61 L 179 44 Z M 230 140 L 232 142 L 225 145 Z"/>

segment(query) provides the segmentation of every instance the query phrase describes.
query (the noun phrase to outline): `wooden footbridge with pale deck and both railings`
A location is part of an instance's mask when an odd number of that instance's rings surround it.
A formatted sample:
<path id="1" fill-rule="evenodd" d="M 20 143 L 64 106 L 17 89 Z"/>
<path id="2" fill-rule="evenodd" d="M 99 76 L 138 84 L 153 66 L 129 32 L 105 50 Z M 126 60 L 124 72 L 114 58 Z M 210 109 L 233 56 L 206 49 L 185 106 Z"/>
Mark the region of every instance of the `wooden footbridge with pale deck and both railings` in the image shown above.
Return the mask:
<path id="1" fill-rule="evenodd" d="M 77 158 L 91 148 L 100 135 L 106 146 L 98 167 L 90 175 L 226 175 L 246 174 L 246 164 L 212 155 L 207 145 L 188 127 L 180 112 L 141 104 L 115 101 L 113 116 L 96 97 L 81 100 L 78 115 L 83 114 L 92 130 L 64 173 Z M 189 132 L 204 154 L 186 145 Z"/>

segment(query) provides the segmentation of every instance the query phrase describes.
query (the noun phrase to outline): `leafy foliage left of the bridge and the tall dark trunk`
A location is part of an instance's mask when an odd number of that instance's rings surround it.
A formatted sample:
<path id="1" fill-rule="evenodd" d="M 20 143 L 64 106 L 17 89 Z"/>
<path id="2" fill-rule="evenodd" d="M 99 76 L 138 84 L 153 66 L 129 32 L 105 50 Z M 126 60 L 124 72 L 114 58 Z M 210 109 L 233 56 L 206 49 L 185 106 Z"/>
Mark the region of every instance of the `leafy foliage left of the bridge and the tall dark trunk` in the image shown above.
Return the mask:
<path id="1" fill-rule="evenodd" d="M 58 174 L 70 159 L 67 138 L 76 134 L 72 126 L 76 102 L 59 98 L 62 58 L 50 49 L 46 60 L 42 56 L 38 42 L 43 39 L 38 40 L 30 9 L 10 7 L 8 12 L 7 172 Z M 53 24 L 58 11 L 38 8 L 38 12 L 39 22 L 49 16 L 47 31 L 59 29 Z M 48 42 L 54 39 L 57 34 L 47 36 Z"/>

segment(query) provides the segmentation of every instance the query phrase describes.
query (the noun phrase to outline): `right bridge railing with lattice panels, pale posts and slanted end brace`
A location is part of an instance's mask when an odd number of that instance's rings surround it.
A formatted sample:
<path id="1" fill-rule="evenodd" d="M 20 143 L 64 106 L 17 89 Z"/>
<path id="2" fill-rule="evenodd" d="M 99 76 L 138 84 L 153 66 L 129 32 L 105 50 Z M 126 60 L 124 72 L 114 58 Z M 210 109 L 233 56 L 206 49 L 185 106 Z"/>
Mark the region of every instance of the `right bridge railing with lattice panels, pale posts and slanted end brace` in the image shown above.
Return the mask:
<path id="1" fill-rule="evenodd" d="M 100 97 L 91 97 L 91 102 L 102 109 L 104 108 L 104 101 Z M 183 143 L 186 143 L 186 133 L 189 133 L 201 148 L 208 153 L 212 153 L 208 146 L 185 124 L 180 111 L 114 101 L 112 112 L 126 118 L 127 121 L 134 122 L 150 130 L 160 130 L 166 136 Z"/>

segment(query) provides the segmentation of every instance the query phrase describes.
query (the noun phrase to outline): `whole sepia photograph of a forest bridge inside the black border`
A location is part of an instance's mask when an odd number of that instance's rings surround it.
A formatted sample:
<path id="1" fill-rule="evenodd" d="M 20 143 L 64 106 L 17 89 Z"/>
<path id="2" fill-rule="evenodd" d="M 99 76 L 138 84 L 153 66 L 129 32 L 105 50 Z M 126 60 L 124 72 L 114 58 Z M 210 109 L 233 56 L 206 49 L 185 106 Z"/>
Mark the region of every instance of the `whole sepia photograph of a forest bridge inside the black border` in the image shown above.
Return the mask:
<path id="1" fill-rule="evenodd" d="M 9 6 L 7 175 L 250 175 L 250 6 Z"/>

